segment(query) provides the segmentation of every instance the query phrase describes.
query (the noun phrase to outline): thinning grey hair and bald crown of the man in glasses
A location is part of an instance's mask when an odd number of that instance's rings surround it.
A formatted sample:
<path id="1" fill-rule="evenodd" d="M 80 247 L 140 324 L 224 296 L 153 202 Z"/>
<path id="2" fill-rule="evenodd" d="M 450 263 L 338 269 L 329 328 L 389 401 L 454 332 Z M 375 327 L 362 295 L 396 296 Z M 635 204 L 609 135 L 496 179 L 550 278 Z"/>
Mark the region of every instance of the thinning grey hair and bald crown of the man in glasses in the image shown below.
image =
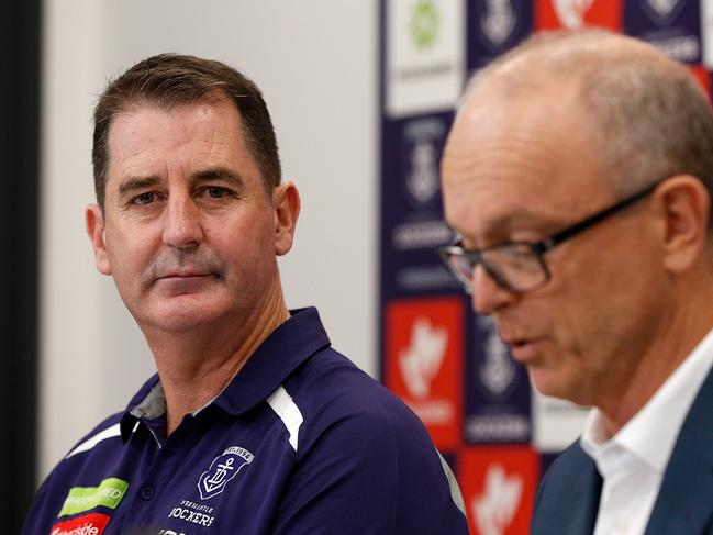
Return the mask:
<path id="1" fill-rule="evenodd" d="M 699 178 L 713 198 L 713 111 L 690 70 L 640 41 L 604 30 L 536 34 L 478 71 L 503 98 L 575 88 L 602 168 L 615 192 L 668 176 Z M 537 105 L 533 103 L 533 105 Z"/>

